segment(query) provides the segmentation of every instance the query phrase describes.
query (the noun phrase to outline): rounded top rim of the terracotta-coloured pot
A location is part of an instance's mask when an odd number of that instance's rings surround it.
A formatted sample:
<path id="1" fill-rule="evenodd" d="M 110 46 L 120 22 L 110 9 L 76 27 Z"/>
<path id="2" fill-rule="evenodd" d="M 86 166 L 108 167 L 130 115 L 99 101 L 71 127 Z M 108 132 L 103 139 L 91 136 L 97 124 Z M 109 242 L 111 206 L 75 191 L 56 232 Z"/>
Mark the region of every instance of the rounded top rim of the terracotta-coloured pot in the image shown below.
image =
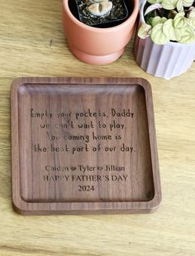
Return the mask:
<path id="1" fill-rule="evenodd" d="M 110 32 L 110 31 L 116 31 L 116 30 L 120 30 L 123 27 L 126 27 L 126 25 L 128 25 L 131 20 L 133 19 L 132 17 L 137 16 L 138 12 L 139 12 L 139 0 L 133 0 L 134 1 L 134 8 L 133 8 L 133 12 L 131 13 L 131 16 L 128 17 L 128 19 L 125 22 L 122 22 L 120 25 L 114 26 L 114 27 L 107 27 L 107 28 L 101 28 L 101 27 L 90 27 L 86 24 L 84 24 L 83 22 L 78 21 L 78 19 L 76 17 L 74 17 L 73 13 L 70 12 L 69 10 L 69 0 L 63 0 L 63 8 L 66 10 L 66 12 L 68 13 L 69 17 L 71 18 L 71 20 L 74 21 L 74 23 L 76 23 L 78 25 L 78 27 L 82 27 L 85 30 L 88 31 L 96 31 L 99 33 L 102 32 Z"/>

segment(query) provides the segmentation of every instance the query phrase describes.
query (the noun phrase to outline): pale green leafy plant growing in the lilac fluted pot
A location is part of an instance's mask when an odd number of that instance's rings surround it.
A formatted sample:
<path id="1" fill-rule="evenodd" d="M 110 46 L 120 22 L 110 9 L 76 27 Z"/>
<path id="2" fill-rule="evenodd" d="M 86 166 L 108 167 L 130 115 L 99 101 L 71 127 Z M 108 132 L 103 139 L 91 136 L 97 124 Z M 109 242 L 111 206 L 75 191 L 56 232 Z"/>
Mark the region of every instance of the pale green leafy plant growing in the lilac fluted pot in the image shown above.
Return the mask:
<path id="1" fill-rule="evenodd" d="M 138 36 L 158 45 L 169 41 L 183 44 L 195 41 L 194 0 L 147 0 L 144 8 L 145 23 Z"/>

